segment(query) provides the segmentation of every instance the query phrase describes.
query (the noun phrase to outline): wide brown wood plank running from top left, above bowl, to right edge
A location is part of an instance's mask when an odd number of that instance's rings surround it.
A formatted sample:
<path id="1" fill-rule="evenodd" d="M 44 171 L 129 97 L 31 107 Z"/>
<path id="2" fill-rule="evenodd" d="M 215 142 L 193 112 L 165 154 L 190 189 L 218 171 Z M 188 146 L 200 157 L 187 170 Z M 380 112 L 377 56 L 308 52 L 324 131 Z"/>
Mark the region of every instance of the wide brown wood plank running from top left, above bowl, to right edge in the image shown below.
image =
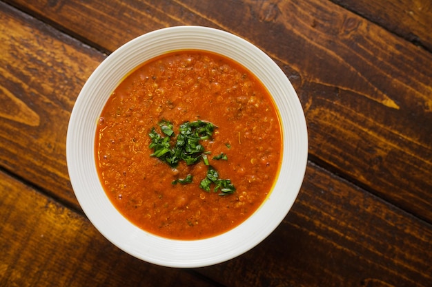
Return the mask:
<path id="1" fill-rule="evenodd" d="M 432 121 L 428 52 L 318 0 L 51 3 L 14 1 L 108 51 L 168 25 L 240 34 L 271 55 L 295 85 L 314 161 L 432 222 L 432 126 L 424 124 Z"/>

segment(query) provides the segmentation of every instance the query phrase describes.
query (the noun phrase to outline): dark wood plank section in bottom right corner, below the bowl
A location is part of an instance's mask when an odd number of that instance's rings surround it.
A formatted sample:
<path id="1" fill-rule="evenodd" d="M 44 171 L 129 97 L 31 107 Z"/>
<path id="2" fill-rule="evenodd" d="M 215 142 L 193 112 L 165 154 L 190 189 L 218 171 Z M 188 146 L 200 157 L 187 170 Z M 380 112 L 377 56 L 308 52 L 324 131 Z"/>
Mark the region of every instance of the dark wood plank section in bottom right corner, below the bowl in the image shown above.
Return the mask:
<path id="1" fill-rule="evenodd" d="M 230 286 L 426 287 L 431 260 L 431 225 L 308 164 L 299 198 L 275 232 L 200 272 Z"/>

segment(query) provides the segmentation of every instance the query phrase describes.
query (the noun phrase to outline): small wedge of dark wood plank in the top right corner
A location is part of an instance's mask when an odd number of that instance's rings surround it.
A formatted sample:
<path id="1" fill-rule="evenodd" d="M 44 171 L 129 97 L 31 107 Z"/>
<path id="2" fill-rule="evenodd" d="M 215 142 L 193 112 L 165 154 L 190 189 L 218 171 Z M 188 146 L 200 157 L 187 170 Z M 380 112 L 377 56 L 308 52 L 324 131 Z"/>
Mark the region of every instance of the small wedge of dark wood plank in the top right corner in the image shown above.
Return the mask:
<path id="1" fill-rule="evenodd" d="M 432 52 L 432 2 L 331 0 Z"/>

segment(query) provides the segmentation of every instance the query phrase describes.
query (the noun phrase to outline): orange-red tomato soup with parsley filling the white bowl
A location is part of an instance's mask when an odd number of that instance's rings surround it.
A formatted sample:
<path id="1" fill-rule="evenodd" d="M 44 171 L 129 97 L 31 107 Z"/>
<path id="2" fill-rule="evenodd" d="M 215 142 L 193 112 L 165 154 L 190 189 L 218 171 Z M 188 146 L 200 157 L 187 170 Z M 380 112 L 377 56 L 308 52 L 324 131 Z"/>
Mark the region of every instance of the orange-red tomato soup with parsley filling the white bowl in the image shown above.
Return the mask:
<path id="1" fill-rule="evenodd" d="M 181 140 L 187 129 L 198 138 Z M 191 153 L 195 162 L 186 149 L 200 149 Z M 119 84 L 99 119 L 95 157 L 108 198 L 130 222 L 199 240 L 241 224 L 266 200 L 282 131 L 251 72 L 218 54 L 184 50 L 140 65 Z"/>

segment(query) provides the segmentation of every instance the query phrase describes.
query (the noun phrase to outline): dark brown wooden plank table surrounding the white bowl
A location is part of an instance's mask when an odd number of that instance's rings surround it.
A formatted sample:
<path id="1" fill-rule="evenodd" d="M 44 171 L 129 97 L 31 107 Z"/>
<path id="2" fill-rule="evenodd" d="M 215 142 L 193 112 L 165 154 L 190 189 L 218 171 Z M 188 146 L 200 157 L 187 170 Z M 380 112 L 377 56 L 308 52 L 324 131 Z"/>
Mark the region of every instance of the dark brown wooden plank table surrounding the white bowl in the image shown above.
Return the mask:
<path id="1" fill-rule="evenodd" d="M 164 268 L 90 224 L 66 166 L 86 79 L 174 25 L 242 36 L 284 70 L 308 124 L 293 209 L 216 266 Z M 0 286 L 432 286 L 429 0 L 0 1 Z"/>

